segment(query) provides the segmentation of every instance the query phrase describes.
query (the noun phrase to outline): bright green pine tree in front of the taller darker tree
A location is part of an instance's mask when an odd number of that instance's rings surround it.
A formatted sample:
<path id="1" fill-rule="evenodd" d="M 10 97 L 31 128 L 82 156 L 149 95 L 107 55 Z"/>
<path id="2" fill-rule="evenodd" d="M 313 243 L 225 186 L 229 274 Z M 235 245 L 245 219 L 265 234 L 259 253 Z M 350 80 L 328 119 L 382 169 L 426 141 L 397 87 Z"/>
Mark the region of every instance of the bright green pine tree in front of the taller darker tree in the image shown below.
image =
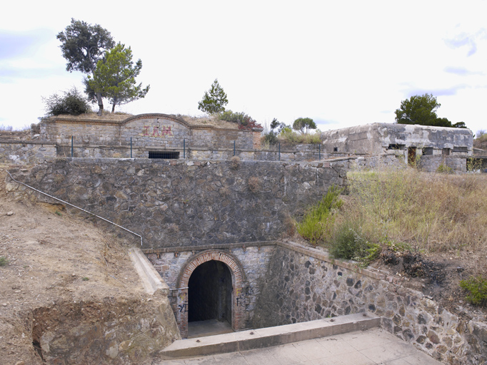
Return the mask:
<path id="1" fill-rule="evenodd" d="M 89 96 L 94 93 L 108 98 L 112 104 L 111 113 L 114 113 L 116 105 L 144 98 L 149 92 L 150 86 L 142 88 L 141 83 L 136 85 L 135 78 L 139 76 L 141 68 L 140 59 L 134 66 L 131 48 L 118 43 L 110 51 L 105 51 L 104 59 L 96 63 L 93 79 L 88 76 L 89 88 L 86 93 Z"/>

